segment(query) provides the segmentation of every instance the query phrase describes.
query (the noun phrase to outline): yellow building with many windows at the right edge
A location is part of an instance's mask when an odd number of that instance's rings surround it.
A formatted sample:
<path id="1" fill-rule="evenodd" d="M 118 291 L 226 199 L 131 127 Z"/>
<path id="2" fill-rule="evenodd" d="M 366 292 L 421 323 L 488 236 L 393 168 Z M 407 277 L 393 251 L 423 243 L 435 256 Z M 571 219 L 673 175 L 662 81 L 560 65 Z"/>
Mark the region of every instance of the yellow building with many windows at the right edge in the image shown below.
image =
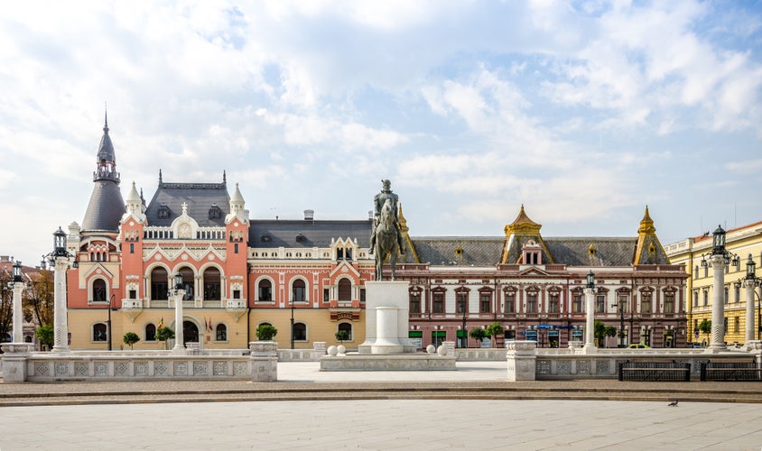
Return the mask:
<path id="1" fill-rule="evenodd" d="M 756 263 L 756 277 L 762 275 L 762 222 L 732 228 L 725 235 L 725 247 L 729 253 L 739 257 L 739 264 L 729 264 L 725 267 L 724 284 L 724 317 L 725 317 L 725 341 L 728 344 L 743 344 L 746 330 L 746 308 L 747 308 L 747 290 L 744 286 L 744 280 L 747 275 L 747 264 L 749 258 Z M 702 264 L 704 256 L 711 253 L 712 235 L 706 233 L 701 236 L 685 239 L 683 241 L 669 244 L 664 250 L 672 264 L 682 264 L 690 277 L 687 279 L 686 291 L 690 296 L 690 301 L 686 302 L 688 319 L 688 332 L 694 343 L 709 344 L 710 336 L 699 330 L 699 325 L 704 319 L 711 321 L 711 299 L 712 299 L 712 276 L 713 270 L 709 264 Z M 708 259 L 706 259 L 708 263 Z M 759 339 L 760 334 L 760 298 L 762 291 L 760 287 L 754 289 L 754 330 L 755 339 Z"/>

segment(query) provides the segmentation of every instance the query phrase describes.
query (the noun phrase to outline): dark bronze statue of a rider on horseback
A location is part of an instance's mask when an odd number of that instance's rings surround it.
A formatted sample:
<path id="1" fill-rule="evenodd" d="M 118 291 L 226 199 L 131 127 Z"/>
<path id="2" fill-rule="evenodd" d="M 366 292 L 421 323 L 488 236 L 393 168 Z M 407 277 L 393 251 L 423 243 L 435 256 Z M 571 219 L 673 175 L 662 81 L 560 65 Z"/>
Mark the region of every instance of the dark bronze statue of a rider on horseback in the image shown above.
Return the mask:
<path id="1" fill-rule="evenodd" d="M 402 234 L 399 226 L 399 197 L 392 192 L 392 182 L 381 180 L 381 192 L 373 198 L 374 227 L 370 235 L 370 250 L 376 254 L 376 281 L 383 280 L 386 257 L 392 267 L 392 280 L 395 280 L 397 254 L 404 255 Z"/>

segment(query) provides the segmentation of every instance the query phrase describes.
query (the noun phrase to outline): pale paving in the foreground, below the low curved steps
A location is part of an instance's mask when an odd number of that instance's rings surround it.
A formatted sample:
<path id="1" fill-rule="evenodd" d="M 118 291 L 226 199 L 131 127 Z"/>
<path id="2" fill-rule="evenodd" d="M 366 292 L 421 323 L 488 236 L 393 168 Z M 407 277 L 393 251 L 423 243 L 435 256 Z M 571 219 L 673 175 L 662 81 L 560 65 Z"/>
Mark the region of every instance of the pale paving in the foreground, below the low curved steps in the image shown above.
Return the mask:
<path id="1" fill-rule="evenodd" d="M 755 404 L 302 400 L 0 409 L 0 448 L 759 449 Z"/>

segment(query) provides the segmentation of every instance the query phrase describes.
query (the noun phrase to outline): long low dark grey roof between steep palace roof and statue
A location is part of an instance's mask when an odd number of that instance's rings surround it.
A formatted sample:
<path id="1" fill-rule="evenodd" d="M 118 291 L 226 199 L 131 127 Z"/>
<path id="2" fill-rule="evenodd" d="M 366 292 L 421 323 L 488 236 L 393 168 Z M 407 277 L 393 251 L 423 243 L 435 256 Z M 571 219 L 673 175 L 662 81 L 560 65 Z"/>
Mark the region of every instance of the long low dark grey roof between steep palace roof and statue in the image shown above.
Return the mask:
<path id="1" fill-rule="evenodd" d="M 315 221 L 315 220 L 260 220 L 249 226 L 249 247 L 329 247 L 334 240 L 358 240 L 359 247 L 370 244 L 370 220 Z M 299 236 L 301 234 L 301 236 Z M 297 238 L 299 236 L 299 238 Z M 263 238 L 264 237 L 264 238 Z"/>

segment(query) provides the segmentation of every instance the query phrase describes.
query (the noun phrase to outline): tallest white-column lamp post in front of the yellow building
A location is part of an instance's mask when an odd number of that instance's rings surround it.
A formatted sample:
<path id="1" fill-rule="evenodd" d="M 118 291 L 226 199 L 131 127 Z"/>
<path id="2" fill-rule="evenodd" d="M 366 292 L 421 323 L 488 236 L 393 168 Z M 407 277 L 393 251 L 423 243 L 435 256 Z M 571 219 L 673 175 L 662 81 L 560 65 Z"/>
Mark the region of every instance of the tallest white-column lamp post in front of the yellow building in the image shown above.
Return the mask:
<path id="1" fill-rule="evenodd" d="M 711 345 L 708 352 L 726 349 L 725 345 L 725 266 L 738 266 L 739 256 L 725 249 L 725 231 L 722 226 L 712 234 L 711 253 L 702 256 L 702 266 L 711 265 L 714 280 L 711 293 Z M 707 263 L 709 261 L 709 263 Z"/>

